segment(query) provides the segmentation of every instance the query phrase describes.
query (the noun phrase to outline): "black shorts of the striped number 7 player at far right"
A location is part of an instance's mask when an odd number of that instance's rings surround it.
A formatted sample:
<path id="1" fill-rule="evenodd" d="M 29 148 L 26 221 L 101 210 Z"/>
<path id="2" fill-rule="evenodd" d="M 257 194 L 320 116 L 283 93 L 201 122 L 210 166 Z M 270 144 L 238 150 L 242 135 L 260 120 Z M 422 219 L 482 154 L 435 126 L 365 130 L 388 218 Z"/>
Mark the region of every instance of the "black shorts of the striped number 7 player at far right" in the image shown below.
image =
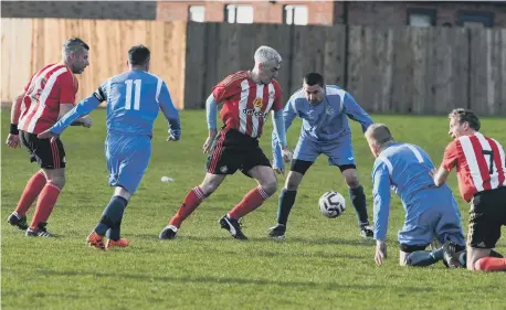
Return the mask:
<path id="1" fill-rule="evenodd" d="M 494 248 L 506 226 L 506 186 L 474 195 L 470 211 L 467 246 Z"/>

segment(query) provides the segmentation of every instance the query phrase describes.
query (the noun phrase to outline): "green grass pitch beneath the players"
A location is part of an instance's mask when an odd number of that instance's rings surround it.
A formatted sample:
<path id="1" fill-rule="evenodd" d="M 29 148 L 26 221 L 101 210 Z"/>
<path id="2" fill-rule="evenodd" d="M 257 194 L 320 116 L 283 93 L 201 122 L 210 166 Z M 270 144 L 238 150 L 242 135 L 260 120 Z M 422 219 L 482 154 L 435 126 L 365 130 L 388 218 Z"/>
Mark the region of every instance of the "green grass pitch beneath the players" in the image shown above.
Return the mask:
<path id="1" fill-rule="evenodd" d="M 103 143 L 105 110 L 92 113 L 91 129 L 72 127 L 62 136 L 67 159 L 66 185 L 49 221 L 54 239 L 28 238 L 7 224 L 27 180 L 36 171 L 25 150 L 1 151 L 1 306 L 2 309 L 506 309 L 506 276 L 398 266 L 397 231 L 404 212 L 394 196 L 389 259 L 377 267 L 375 244 L 359 237 L 355 212 L 339 171 L 320 157 L 303 181 L 284 242 L 266 237 L 275 224 L 277 193 L 245 217 L 246 243 L 231 238 L 217 221 L 255 184 L 230 177 L 183 224 L 175 240 L 158 234 L 188 190 L 203 178 L 203 111 L 182 111 L 182 140 L 165 142 L 166 121 L 157 119 L 152 158 L 130 201 L 123 234 L 131 246 L 112 252 L 85 247 L 85 238 L 108 202 Z M 1 138 L 9 110 L 2 109 Z M 375 116 L 398 140 L 423 147 L 439 164 L 449 142 L 445 117 Z M 505 118 L 483 119 L 483 132 L 506 146 Z M 271 132 L 271 122 L 266 132 Z M 368 195 L 373 158 L 352 124 L 359 174 Z M 294 147 L 295 122 L 288 135 Z M 262 146 L 271 153 L 270 135 Z M 175 182 L 162 183 L 167 175 Z M 280 178 L 280 189 L 284 179 Z M 457 195 L 456 179 L 450 184 Z M 317 207 L 320 194 L 337 190 L 348 209 L 328 220 Z M 458 197 L 465 229 L 468 206 Z M 29 213 L 29 220 L 33 207 Z M 503 235 L 506 235 L 503 229 Z M 506 237 L 497 249 L 506 253 Z"/>

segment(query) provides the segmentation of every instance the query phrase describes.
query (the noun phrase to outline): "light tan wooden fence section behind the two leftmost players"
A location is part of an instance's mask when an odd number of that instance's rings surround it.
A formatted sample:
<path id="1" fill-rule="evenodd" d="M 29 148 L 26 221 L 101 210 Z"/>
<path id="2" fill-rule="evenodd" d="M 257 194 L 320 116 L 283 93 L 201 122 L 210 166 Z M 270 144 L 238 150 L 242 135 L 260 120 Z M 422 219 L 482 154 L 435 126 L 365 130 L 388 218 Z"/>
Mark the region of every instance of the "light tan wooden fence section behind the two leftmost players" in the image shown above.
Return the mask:
<path id="1" fill-rule="evenodd" d="M 1 100 L 11 100 L 31 74 L 61 62 L 62 44 L 72 36 L 89 45 L 89 66 L 77 75 L 77 98 L 88 96 L 106 78 L 127 70 L 127 51 L 136 44 L 151 50 L 150 71 L 162 77 L 172 100 L 183 107 L 185 22 L 64 19 L 2 19 Z"/>

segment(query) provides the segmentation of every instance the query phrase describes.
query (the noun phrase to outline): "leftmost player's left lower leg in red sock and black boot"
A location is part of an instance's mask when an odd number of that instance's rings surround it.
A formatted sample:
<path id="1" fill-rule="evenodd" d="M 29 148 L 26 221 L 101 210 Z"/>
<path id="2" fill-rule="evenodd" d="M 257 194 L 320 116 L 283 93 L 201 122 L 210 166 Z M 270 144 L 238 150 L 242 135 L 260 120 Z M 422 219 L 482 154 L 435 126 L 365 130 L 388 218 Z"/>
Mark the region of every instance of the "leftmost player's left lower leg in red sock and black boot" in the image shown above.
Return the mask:
<path id="1" fill-rule="evenodd" d="M 27 231 L 27 212 L 30 206 L 33 204 L 35 199 L 41 193 L 42 189 L 45 186 L 46 179 L 44 172 L 39 170 L 32 178 L 28 181 L 27 186 L 24 188 L 23 194 L 21 195 L 15 211 L 9 216 L 9 224 L 12 226 L 18 226 L 18 228 Z"/>

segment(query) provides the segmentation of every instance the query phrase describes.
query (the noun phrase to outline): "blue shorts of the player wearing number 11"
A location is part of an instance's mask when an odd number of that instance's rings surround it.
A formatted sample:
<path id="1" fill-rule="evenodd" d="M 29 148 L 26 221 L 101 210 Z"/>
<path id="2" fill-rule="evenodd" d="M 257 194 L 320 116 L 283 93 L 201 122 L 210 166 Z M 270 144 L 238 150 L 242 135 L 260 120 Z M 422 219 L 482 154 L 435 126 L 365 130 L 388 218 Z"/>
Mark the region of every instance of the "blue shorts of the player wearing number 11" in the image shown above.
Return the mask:
<path id="1" fill-rule="evenodd" d="M 151 158 L 151 138 L 110 132 L 105 141 L 105 157 L 109 185 L 122 186 L 134 194 Z"/>

